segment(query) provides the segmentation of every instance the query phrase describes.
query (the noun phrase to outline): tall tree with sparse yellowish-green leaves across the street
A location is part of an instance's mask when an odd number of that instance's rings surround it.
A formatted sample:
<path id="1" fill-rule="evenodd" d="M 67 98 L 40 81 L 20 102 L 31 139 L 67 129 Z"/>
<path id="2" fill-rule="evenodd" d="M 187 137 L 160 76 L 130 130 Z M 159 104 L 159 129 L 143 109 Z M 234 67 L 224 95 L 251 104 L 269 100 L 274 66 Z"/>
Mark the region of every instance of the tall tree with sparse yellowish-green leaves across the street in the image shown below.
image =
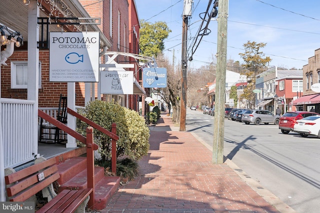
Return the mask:
<path id="1" fill-rule="evenodd" d="M 244 60 L 243 71 L 241 74 L 247 78 L 247 86 L 243 89 L 243 94 L 240 95 L 240 100 L 246 100 L 248 107 L 253 108 L 255 104 L 255 95 L 252 90 L 255 88 L 255 76 L 267 69 L 267 64 L 271 58 L 266 56 L 260 48 L 265 47 L 266 43 L 256 43 L 255 41 L 248 41 L 243 44 L 244 53 L 239 55 Z"/>

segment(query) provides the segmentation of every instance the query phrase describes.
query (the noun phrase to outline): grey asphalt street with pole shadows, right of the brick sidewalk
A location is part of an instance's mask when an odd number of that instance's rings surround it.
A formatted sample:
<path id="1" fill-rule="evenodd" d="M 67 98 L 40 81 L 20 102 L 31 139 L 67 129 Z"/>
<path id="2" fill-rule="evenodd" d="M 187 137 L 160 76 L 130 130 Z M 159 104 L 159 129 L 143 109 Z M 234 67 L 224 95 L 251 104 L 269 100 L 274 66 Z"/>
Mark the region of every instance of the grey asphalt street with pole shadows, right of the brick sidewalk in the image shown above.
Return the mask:
<path id="1" fill-rule="evenodd" d="M 186 131 L 212 148 L 214 117 L 187 110 Z M 297 213 L 320 212 L 320 139 L 224 119 L 223 155 Z"/>

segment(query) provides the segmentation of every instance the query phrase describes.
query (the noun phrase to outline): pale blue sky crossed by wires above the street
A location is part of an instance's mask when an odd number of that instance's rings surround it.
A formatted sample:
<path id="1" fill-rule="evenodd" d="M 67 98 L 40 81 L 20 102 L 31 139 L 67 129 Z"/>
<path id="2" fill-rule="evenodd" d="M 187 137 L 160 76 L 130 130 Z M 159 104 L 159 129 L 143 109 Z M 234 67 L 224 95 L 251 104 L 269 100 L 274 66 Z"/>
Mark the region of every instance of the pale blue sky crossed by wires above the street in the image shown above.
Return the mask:
<path id="1" fill-rule="evenodd" d="M 135 3 L 140 20 L 166 22 L 171 32 L 164 40 L 163 53 L 172 62 L 174 49 L 175 63 L 180 62 L 184 0 L 135 0 Z M 193 0 L 188 21 L 188 53 L 201 24 L 199 15 L 206 11 L 208 3 L 209 0 Z M 211 8 L 212 4 L 209 12 Z M 243 44 L 263 42 L 266 46 L 260 50 L 272 59 L 270 66 L 302 69 L 308 58 L 314 56 L 314 50 L 320 48 L 319 8 L 320 0 L 229 0 L 227 59 L 244 63 L 239 56 L 244 53 Z M 188 68 L 199 68 L 215 57 L 217 21 L 211 20 L 208 28 L 211 32 L 202 37 L 196 49 L 193 47 L 193 60 L 188 62 Z"/>

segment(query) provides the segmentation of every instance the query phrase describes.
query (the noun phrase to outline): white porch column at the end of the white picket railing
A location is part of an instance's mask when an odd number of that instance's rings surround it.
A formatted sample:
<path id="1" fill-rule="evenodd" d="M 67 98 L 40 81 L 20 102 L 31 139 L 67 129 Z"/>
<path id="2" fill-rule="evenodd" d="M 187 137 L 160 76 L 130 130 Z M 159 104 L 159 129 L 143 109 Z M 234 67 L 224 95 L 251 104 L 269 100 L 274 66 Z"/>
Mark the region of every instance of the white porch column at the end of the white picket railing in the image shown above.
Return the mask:
<path id="1" fill-rule="evenodd" d="M 37 24 L 39 17 L 39 7 L 37 1 L 30 0 L 28 4 L 28 85 L 27 99 L 34 100 L 33 130 L 32 140 L 34 141 L 34 154 L 38 152 L 38 94 L 39 94 L 39 27 Z"/>

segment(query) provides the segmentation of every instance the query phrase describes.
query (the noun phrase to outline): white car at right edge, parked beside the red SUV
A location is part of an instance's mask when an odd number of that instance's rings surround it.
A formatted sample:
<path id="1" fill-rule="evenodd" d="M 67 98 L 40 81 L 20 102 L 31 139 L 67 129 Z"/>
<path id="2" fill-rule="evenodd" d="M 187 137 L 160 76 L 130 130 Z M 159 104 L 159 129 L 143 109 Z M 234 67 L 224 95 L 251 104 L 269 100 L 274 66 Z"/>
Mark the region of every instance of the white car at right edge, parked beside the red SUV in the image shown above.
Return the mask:
<path id="1" fill-rule="evenodd" d="M 296 121 L 293 132 L 297 132 L 302 137 L 316 135 L 320 138 L 320 115 L 309 116 Z"/>

